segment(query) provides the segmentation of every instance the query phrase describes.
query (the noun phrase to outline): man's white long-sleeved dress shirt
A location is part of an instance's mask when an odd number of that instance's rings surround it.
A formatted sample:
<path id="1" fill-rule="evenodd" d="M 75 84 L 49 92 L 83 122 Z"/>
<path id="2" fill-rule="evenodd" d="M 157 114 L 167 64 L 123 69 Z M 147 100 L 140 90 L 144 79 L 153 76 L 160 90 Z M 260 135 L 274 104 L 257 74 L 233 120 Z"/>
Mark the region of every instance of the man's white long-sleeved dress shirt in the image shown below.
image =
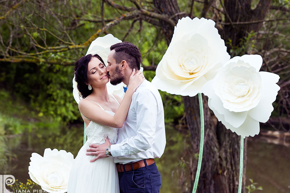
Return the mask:
<path id="1" fill-rule="evenodd" d="M 127 118 L 110 152 L 115 163 L 160 158 L 166 144 L 164 110 L 158 90 L 144 80 L 132 96 Z"/>

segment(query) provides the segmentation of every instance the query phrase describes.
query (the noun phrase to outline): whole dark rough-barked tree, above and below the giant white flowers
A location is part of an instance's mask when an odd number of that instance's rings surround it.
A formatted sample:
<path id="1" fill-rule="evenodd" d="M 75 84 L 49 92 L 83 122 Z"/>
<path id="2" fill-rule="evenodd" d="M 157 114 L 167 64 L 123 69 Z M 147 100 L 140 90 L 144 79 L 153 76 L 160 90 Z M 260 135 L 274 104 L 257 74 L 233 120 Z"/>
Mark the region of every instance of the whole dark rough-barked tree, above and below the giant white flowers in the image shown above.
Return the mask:
<path id="1" fill-rule="evenodd" d="M 213 1 L 206 1 L 205 6 L 210 5 Z M 176 0 L 164 1 L 153 0 L 155 8 L 160 10 L 162 14 L 173 16 L 173 20 L 177 23 L 179 7 Z M 253 21 L 262 20 L 266 16 L 270 0 L 260 0 L 255 10 L 251 10 L 251 0 L 225 0 L 226 16 L 225 22 Z M 204 7 L 203 16 L 206 17 L 208 7 Z M 165 34 L 167 44 L 171 42 L 173 28 L 160 21 L 162 31 Z M 247 36 L 247 32 L 258 31 L 262 23 L 254 23 L 247 25 L 225 25 L 220 31 L 225 42 L 230 38 L 233 45 L 238 45 L 241 38 Z M 228 47 L 228 50 L 230 48 Z M 191 134 L 192 148 L 194 153 L 199 152 L 200 144 L 200 112 L 198 96 L 183 97 L 184 112 L 186 123 Z M 204 136 L 204 152 L 200 178 L 198 182 L 198 193 L 235 193 L 238 192 L 239 165 L 240 165 L 240 136 L 226 129 L 217 121 L 213 113 L 207 105 L 207 98 L 203 96 L 205 136 Z M 244 140 L 244 165 L 243 165 L 243 187 L 245 192 L 245 169 L 247 163 L 247 138 Z M 193 163 L 193 168 L 197 166 L 197 160 Z M 196 172 L 196 169 L 195 171 Z M 195 173 L 194 173 L 195 175 Z M 192 178 L 191 178 L 192 179 Z M 190 187 L 192 190 L 193 183 Z"/>

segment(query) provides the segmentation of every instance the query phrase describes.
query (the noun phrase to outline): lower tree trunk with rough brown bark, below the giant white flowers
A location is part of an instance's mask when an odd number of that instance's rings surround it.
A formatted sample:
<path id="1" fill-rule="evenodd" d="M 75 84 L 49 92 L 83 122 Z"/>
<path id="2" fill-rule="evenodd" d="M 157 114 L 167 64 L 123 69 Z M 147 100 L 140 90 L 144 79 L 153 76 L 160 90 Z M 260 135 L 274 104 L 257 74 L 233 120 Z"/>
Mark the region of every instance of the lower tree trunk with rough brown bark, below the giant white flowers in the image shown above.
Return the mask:
<path id="1" fill-rule="evenodd" d="M 203 95 L 204 107 L 204 151 L 198 193 L 234 193 L 238 191 L 240 164 L 240 136 L 226 129 L 207 105 Z M 186 123 L 189 128 L 193 153 L 199 152 L 200 146 L 200 111 L 198 96 L 183 97 Z M 245 140 L 246 143 L 247 140 Z M 244 145 L 244 169 L 246 169 L 246 145 Z M 197 160 L 193 163 L 197 167 Z M 245 181 L 245 180 L 244 180 Z M 191 187 L 192 190 L 192 187 Z"/>

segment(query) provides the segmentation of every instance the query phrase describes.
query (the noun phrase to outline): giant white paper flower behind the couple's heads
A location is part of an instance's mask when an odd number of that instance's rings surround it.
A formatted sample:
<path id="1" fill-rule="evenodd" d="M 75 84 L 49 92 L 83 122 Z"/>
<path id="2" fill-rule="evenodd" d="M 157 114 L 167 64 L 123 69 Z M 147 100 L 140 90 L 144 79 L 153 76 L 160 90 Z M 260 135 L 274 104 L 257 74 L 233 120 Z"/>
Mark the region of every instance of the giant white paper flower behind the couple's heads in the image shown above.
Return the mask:
<path id="1" fill-rule="evenodd" d="M 97 37 L 94 41 L 92 41 L 90 47 L 86 55 L 88 54 L 99 54 L 101 58 L 104 60 L 105 65 L 107 66 L 108 54 L 110 53 L 111 45 L 122 42 L 118 38 L 115 38 L 112 34 L 107 34 L 104 37 Z M 109 94 L 116 94 L 119 97 L 124 97 L 124 89 L 123 86 L 126 86 L 124 83 L 120 83 L 116 86 L 113 86 L 110 82 L 107 83 L 107 89 Z M 75 82 L 75 76 L 73 77 L 73 96 L 77 104 L 82 99 L 80 97 L 80 93 L 77 90 L 77 82 Z"/>

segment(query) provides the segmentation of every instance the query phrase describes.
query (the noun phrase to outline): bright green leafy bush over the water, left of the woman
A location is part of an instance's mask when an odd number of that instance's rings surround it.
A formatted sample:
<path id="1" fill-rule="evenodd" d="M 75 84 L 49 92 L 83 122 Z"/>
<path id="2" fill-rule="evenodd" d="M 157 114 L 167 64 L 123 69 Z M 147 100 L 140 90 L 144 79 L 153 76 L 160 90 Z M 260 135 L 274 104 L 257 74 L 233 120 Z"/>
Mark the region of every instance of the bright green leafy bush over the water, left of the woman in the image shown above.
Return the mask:
<path id="1" fill-rule="evenodd" d="M 56 65 L 52 69 L 41 67 L 42 80 L 37 96 L 30 95 L 34 109 L 51 115 L 57 121 L 70 122 L 79 115 L 72 96 L 72 67 Z"/>

